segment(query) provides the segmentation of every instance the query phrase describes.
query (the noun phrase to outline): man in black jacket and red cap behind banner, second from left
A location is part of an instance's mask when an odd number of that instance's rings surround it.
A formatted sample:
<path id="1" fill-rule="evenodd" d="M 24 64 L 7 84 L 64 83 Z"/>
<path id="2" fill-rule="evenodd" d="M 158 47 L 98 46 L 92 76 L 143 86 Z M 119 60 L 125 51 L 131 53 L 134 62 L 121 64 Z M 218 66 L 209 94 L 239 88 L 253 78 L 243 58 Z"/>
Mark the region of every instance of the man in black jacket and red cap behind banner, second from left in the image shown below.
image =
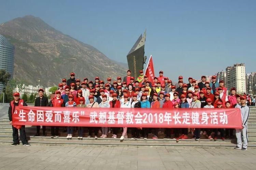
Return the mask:
<path id="1" fill-rule="evenodd" d="M 40 88 L 38 90 L 39 97 L 35 99 L 35 105 L 34 106 L 47 106 L 48 104 L 48 98 L 44 97 L 44 90 Z M 43 128 L 43 136 L 45 136 L 45 126 L 42 126 Z M 37 133 L 34 136 L 40 136 L 40 126 L 37 126 Z"/>

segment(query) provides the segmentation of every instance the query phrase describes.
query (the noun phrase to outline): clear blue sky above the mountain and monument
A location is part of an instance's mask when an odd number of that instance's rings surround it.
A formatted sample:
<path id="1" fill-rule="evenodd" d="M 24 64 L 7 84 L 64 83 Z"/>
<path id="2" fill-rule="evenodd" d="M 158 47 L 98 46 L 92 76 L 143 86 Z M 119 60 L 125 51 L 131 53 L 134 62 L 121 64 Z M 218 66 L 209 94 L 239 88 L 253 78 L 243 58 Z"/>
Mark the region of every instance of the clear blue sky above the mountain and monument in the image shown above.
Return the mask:
<path id="1" fill-rule="evenodd" d="M 173 81 L 213 75 L 235 63 L 256 71 L 256 1 L 0 0 L 0 23 L 33 15 L 109 58 L 126 55 L 147 30 L 145 55 Z M 146 62 L 147 63 L 147 62 Z M 146 65 L 144 66 L 146 67 Z"/>

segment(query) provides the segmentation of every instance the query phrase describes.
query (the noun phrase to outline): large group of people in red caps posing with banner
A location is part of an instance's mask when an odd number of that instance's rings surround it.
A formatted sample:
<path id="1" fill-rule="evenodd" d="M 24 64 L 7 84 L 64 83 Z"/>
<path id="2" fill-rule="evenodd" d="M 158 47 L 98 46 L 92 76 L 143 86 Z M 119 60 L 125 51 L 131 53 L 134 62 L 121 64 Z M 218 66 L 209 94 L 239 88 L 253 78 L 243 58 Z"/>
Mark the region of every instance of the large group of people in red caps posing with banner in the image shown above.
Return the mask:
<path id="1" fill-rule="evenodd" d="M 84 78 L 75 79 L 75 73 L 70 73 L 70 79 L 62 79 L 58 84 L 58 90 L 54 97 L 48 102 L 43 96 L 44 90 L 39 89 L 39 97 L 35 99 L 34 106 L 51 107 L 120 107 L 120 108 L 240 108 L 242 117 L 242 129 L 236 129 L 237 147 L 235 149 L 247 150 L 247 120 L 249 107 L 247 106 L 247 96 L 237 94 L 236 88 L 227 89 L 224 81 L 216 81 L 216 76 L 212 76 L 212 81 L 206 81 L 206 77 L 201 77 L 201 82 L 196 83 L 193 78 L 188 78 L 186 84 L 182 76 L 179 76 L 178 83 L 172 84 L 168 77 L 163 76 L 163 71 L 159 71 L 159 77 L 154 78 L 154 82 L 148 81 L 148 77 L 140 70 L 137 79 L 131 76 L 131 71 L 123 78 L 117 77 L 117 81 L 112 82 L 108 78 L 106 82 L 95 77 L 94 82 Z M 15 106 L 26 105 L 19 99 L 18 92 L 13 94 L 14 100 L 10 103 L 9 118 L 12 124 L 12 114 Z M 67 139 L 71 139 L 74 127 L 67 126 Z M 192 134 L 191 139 L 199 140 L 201 135 L 207 136 L 209 140 L 217 140 L 218 133 L 220 138 L 233 138 L 233 129 L 199 129 L 199 128 L 130 128 L 132 138 L 148 138 L 149 133 L 154 133 L 153 139 L 158 139 L 158 134 L 165 133 L 163 139 L 173 138 L 188 139 L 188 134 Z M 45 126 L 42 127 L 45 136 Z M 117 133 L 122 130 L 120 140 L 127 138 L 127 127 L 88 127 L 89 135 L 87 138 L 98 138 L 98 131 L 101 131 L 101 138 L 106 138 L 112 131 L 112 138 L 117 138 Z M 84 127 L 78 127 L 78 139 L 83 139 Z M 39 136 L 40 126 L 37 126 L 35 136 Z M 25 126 L 20 129 L 20 137 L 24 145 L 29 145 L 26 140 Z M 51 127 L 51 137 L 59 137 L 59 126 Z M 243 138 L 243 144 L 242 139 Z M 13 144 L 18 145 L 18 130 L 13 126 Z"/>

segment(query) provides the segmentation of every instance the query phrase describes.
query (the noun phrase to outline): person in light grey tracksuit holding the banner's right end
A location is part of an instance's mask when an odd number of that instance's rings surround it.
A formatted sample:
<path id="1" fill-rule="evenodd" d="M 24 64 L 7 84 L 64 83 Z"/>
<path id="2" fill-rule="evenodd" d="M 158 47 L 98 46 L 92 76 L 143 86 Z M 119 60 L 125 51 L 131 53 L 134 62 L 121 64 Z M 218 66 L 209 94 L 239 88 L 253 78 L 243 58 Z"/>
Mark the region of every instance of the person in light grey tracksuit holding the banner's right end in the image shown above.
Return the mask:
<path id="1" fill-rule="evenodd" d="M 240 108 L 241 110 L 242 129 L 236 129 L 237 146 L 234 149 L 242 149 L 242 151 L 246 151 L 248 145 L 247 122 L 250 108 L 246 105 L 246 96 L 241 96 L 240 102 L 241 105 L 236 105 L 236 108 Z M 242 135 L 244 143 L 242 143 Z"/>

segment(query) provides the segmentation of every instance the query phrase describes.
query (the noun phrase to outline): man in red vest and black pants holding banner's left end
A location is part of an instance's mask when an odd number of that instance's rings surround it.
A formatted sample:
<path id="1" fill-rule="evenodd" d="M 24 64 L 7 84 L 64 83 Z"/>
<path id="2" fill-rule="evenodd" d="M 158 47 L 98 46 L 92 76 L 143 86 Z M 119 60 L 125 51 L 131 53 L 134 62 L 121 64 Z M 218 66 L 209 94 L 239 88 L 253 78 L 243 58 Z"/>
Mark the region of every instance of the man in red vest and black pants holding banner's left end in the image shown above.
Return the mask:
<path id="1" fill-rule="evenodd" d="M 15 146 L 15 145 L 19 145 L 19 134 L 18 134 L 18 129 L 19 129 L 19 133 L 20 133 L 20 139 L 22 141 L 22 144 L 24 146 L 30 146 L 30 144 L 28 143 L 27 139 L 26 139 L 26 132 L 25 132 L 25 125 L 13 125 L 12 124 L 12 115 L 15 111 L 15 107 L 16 106 L 28 106 L 23 99 L 19 99 L 19 93 L 15 92 L 13 94 L 13 99 L 10 102 L 10 107 L 9 107 L 9 111 L 8 111 L 8 116 L 9 116 L 9 120 L 10 120 L 10 124 L 12 125 L 12 136 L 13 136 L 13 143 L 11 146 Z"/>

